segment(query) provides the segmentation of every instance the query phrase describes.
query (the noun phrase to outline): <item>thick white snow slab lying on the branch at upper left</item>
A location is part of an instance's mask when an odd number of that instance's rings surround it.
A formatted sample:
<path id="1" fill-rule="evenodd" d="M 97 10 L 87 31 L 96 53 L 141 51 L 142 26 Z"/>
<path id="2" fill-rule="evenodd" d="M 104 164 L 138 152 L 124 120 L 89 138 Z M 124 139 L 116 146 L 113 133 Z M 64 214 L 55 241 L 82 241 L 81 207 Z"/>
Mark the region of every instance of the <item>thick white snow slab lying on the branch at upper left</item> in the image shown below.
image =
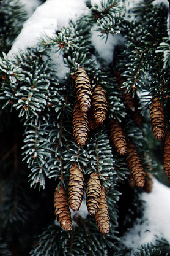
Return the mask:
<path id="1" fill-rule="evenodd" d="M 69 20 L 76 21 L 79 15 L 87 11 L 85 0 L 47 0 L 37 7 L 30 18 L 24 23 L 23 29 L 15 40 L 9 56 L 18 49 L 36 47 L 42 34 L 53 36 L 57 29 L 67 26 Z"/>

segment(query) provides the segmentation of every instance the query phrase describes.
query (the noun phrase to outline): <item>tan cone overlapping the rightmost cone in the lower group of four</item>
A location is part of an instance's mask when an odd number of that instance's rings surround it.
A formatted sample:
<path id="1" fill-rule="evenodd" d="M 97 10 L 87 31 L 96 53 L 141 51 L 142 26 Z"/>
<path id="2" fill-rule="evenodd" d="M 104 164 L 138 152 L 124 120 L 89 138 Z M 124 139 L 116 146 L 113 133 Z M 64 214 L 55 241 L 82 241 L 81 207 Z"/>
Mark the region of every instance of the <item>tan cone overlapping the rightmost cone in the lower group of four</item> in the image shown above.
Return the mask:
<path id="1" fill-rule="evenodd" d="M 92 173 L 87 182 L 86 205 L 88 212 L 94 216 L 99 209 L 101 196 L 100 177 L 98 173 Z"/>

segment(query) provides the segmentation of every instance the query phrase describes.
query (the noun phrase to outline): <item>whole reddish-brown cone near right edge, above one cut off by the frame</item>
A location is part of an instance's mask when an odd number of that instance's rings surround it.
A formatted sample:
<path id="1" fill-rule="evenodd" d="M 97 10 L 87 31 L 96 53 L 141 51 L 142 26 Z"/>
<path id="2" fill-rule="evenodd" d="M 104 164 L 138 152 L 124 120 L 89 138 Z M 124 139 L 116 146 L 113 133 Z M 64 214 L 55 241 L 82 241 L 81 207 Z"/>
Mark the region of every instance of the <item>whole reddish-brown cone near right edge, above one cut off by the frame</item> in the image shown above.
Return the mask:
<path id="1" fill-rule="evenodd" d="M 164 112 L 163 112 L 163 103 L 159 97 L 152 99 L 152 104 L 150 106 L 150 123 L 152 126 L 153 133 L 155 138 L 163 139 L 164 138 Z"/>

